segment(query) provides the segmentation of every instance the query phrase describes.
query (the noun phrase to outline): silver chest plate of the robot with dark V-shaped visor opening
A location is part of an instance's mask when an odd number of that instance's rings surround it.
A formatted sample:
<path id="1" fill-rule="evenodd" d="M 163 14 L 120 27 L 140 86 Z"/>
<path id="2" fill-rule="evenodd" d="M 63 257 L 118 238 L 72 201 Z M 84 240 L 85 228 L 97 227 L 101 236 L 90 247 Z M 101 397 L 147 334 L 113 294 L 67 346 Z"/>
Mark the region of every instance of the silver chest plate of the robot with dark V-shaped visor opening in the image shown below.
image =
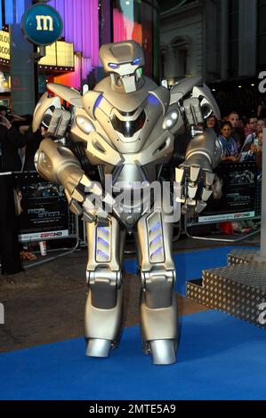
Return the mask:
<path id="1" fill-rule="evenodd" d="M 72 134 L 86 142 L 91 164 L 105 166 L 105 173 L 112 173 L 116 166 L 157 165 L 171 157 L 173 134 L 163 129 L 163 119 L 162 109 L 152 100 L 144 101 L 132 112 L 122 112 L 101 100 L 95 110 L 93 130 L 81 133 L 79 129 L 76 133 L 76 125 Z"/>

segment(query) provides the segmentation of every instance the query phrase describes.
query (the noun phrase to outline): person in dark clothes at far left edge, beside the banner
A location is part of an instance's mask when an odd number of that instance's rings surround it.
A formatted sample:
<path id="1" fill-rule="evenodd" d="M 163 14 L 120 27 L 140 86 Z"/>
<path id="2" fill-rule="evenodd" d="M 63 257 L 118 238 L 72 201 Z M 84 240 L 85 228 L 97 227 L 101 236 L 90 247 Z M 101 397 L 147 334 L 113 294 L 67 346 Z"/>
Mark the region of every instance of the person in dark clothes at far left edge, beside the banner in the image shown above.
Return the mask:
<path id="1" fill-rule="evenodd" d="M 6 172 L 20 171 L 19 149 L 25 138 L 11 125 L 6 117 L 0 116 L 0 254 L 2 274 L 22 271 L 15 215 L 13 180 Z"/>

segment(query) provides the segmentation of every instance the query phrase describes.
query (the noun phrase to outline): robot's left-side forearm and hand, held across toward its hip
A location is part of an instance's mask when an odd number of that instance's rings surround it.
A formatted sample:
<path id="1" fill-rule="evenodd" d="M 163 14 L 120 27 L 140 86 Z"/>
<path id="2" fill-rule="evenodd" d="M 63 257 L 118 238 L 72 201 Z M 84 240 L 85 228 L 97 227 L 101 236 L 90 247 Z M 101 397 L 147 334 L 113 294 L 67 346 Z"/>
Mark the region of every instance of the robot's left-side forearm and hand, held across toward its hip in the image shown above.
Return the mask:
<path id="1" fill-rule="evenodd" d="M 95 221 L 93 205 L 86 198 L 86 194 L 93 193 L 101 197 L 101 188 L 86 177 L 70 149 L 46 138 L 36 152 L 35 164 L 37 172 L 44 179 L 63 186 L 73 213 L 84 214 L 85 221 Z"/>

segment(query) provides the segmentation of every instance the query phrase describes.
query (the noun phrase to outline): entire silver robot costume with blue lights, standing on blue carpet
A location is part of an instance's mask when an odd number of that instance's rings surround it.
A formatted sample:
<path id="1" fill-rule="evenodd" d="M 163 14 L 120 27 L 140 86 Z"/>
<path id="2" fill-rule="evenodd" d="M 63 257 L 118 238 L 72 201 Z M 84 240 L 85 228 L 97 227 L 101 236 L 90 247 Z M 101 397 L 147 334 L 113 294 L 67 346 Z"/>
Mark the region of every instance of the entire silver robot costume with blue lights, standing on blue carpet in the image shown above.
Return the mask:
<path id="1" fill-rule="evenodd" d="M 211 113 L 220 112 L 200 77 L 182 80 L 171 91 L 142 76 L 144 56 L 139 44 L 126 41 L 101 46 L 100 58 L 108 76 L 82 96 L 60 84 L 48 84 L 56 96 L 44 93 L 36 106 L 33 131 L 45 114 L 52 114 L 48 136 L 36 153 L 36 168 L 48 181 L 61 184 L 71 211 L 83 215 L 88 242 L 85 306 L 86 355 L 108 357 L 121 332 L 122 263 L 126 231 L 136 234 L 141 273 L 141 335 L 143 350 L 154 364 L 176 361 L 177 306 L 173 293 L 175 269 L 171 255 L 173 225 L 165 213 L 143 200 L 114 204 L 117 188 L 133 189 L 135 182 L 157 181 L 161 167 L 189 133 L 185 157 L 175 169 L 181 185 L 177 201 L 182 212 L 200 213 L 212 194 L 213 169 L 222 157 L 222 146 L 212 130 L 198 126 Z M 61 109 L 60 99 L 72 111 Z M 52 138 L 68 137 L 83 149 L 80 157 Z M 101 197 L 99 182 L 90 178 L 88 163 L 98 170 L 101 184 L 112 175 L 112 191 L 103 191 L 112 212 L 95 209 L 88 196 Z M 144 187 L 144 186 L 143 186 Z"/>

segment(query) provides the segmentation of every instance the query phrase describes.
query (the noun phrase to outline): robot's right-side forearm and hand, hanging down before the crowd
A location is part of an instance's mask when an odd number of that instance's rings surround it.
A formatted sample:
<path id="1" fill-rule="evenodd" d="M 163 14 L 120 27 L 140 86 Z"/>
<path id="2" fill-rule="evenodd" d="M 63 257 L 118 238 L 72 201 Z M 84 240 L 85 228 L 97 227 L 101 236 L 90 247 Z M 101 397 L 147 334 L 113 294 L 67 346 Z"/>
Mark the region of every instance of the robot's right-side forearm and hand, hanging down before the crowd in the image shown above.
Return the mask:
<path id="1" fill-rule="evenodd" d="M 213 193 L 213 169 L 222 158 L 222 143 L 212 129 L 197 135 L 189 142 L 185 161 L 176 168 L 175 181 L 181 184 L 182 213 L 194 209 L 201 213 Z"/>

